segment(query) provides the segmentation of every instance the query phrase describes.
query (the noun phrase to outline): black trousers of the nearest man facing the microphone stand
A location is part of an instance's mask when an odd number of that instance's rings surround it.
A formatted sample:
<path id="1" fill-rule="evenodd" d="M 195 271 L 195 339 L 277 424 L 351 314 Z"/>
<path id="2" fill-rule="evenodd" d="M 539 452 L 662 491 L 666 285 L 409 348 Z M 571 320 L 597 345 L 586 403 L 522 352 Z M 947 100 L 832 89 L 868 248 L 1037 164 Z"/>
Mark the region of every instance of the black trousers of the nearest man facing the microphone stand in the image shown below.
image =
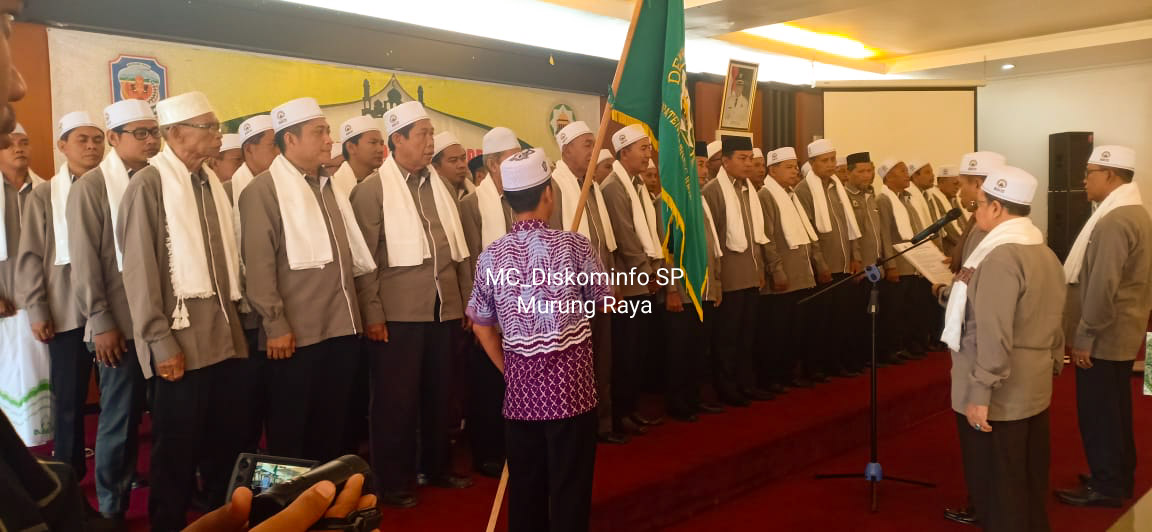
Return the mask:
<path id="1" fill-rule="evenodd" d="M 991 425 L 992 432 L 980 432 L 956 413 L 964 478 L 977 518 L 992 532 L 1048 531 L 1048 411 Z"/>

